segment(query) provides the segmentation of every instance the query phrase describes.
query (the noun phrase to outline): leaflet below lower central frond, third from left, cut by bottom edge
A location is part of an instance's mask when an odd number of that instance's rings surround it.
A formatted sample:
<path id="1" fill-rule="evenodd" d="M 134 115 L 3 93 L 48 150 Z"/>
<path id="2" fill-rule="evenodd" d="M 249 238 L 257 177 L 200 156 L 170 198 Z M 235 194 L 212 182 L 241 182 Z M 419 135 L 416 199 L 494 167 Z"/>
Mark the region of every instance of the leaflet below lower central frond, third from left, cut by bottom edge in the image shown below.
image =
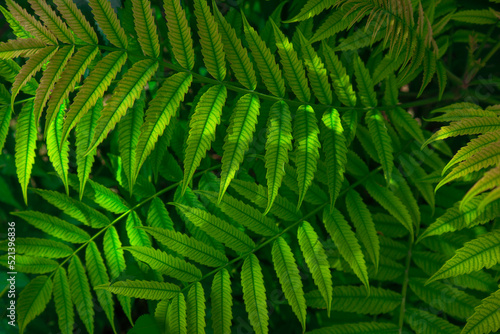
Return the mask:
<path id="1" fill-rule="evenodd" d="M 225 268 L 215 274 L 212 281 L 212 328 L 215 334 L 229 333 L 233 312 L 233 298 L 231 297 L 231 279 Z"/>

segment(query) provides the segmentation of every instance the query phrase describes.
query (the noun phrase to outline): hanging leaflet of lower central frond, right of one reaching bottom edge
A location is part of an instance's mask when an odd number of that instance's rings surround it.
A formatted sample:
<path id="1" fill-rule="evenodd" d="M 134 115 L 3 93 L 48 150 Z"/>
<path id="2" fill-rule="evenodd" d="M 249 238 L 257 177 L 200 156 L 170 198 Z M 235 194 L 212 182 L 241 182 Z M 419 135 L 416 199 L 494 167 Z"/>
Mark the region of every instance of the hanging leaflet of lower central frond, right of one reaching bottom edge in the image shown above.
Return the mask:
<path id="1" fill-rule="evenodd" d="M 313 227 L 308 222 L 303 222 L 299 226 L 297 238 L 307 266 L 309 270 L 311 270 L 314 283 L 318 287 L 326 303 L 328 316 L 330 316 L 333 283 L 330 265 L 326 258 L 323 245 L 319 242 L 316 231 L 314 231 Z"/>

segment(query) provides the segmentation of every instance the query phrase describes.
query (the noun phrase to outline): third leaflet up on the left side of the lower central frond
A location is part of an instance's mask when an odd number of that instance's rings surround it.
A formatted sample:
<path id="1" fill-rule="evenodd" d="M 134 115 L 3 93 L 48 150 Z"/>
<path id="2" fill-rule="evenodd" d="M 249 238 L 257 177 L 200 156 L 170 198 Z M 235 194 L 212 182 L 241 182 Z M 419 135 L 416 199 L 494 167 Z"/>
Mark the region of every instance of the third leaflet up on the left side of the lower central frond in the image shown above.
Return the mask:
<path id="1" fill-rule="evenodd" d="M 215 248 L 193 239 L 180 232 L 158 227 L 141 227 L 161 244 L 176 253 L 209 267 L 220 267 L 227 264 L 226 256 Z"/>

